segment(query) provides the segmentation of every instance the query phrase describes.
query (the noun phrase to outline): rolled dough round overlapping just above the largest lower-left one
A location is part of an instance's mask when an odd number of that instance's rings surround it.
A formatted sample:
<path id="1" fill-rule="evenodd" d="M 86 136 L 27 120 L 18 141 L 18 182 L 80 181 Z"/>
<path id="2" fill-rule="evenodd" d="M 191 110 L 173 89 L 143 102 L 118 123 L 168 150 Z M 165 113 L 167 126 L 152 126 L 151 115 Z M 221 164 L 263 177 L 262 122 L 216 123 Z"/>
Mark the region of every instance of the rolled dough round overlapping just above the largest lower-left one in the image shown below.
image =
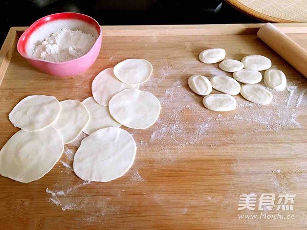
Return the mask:
<path id="1" fill-rule="evenodd" d="M 61 105 L 53 96 L 32 95 L 21 100 L 10 112 L 15 127 L 27 132 L 43 129 L 58 117 Z"/>

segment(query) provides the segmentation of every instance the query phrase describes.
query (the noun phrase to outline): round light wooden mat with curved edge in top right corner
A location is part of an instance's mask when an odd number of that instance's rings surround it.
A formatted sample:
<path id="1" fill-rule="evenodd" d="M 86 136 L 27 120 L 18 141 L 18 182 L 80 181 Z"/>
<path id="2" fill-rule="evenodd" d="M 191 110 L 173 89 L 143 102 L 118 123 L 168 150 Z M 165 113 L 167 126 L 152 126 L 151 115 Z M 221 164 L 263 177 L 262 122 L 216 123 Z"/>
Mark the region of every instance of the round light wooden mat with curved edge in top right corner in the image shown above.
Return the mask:
<path id="1" fill-rule="evenodd" d="M 226 0 L 236 9 L 267 22 L 307 22 L 304 0 Z"/>

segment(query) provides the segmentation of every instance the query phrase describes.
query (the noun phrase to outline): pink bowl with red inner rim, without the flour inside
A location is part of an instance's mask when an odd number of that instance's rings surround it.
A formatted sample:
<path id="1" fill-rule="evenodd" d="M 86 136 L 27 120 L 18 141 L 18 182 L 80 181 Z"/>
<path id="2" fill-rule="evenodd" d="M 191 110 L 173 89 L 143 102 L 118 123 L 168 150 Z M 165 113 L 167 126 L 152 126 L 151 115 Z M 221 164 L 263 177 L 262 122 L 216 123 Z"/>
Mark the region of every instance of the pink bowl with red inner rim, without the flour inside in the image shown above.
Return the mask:
<path id="1" fill-rule="evenodd" d="M 92 34 L 96 42 L 88 53 L 71 61 L 50 62 L 33 59 L 32 52 L 36 45 L 62 28 Z M 101 28 L 94 18 L 78 13 L 57 13 L 35 21 L 19 38 L 17 50 L 38 70 L 58 77 L 70 77 L 87 70 L 95 62 L 101 48 L 101 37 Z"/>

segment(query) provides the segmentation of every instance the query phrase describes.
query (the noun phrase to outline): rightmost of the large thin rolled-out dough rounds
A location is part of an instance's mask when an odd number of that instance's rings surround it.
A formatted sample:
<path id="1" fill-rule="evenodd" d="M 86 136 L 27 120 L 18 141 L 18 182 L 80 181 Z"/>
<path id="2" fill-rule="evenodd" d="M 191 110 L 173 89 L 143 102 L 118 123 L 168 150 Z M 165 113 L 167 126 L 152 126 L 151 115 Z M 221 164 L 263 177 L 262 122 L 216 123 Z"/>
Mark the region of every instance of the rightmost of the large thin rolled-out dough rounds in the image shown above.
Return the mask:
<path id="1" fill-rule="evenodd" d="M 146 129 L 159 118 L 161 105 L 153 94 L 136 88 L 124 89 L 109 102 L 112 117 L 133 129 Z"/>

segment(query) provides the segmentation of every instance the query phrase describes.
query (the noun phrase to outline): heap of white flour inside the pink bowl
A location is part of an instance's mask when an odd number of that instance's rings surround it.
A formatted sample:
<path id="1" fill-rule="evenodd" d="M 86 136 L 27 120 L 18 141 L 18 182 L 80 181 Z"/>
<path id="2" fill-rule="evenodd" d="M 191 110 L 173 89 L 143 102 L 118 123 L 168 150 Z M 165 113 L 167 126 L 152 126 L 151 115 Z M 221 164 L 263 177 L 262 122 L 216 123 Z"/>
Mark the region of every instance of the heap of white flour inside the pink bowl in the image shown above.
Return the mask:
<path id="1" fill-rule="evenodd" d="M 51 62 L 70 61 L 89 52 L 94 43 L 92 34 L 63 28 L 38 44 L 33 51 L 33 58 Z"/>

